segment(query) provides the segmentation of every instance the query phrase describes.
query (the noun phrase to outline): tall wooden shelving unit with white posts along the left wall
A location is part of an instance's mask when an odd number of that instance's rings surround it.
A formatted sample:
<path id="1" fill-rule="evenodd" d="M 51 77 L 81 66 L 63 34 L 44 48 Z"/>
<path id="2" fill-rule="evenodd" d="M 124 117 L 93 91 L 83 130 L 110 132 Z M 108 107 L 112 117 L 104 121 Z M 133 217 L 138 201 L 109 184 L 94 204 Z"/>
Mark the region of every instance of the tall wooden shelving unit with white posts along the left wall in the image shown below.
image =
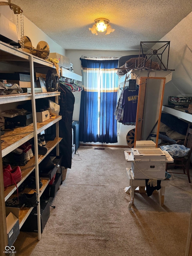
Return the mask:
<path id="1" fill-rule="evenodd" d="M 44 190 L 46 189 L 47 185 L 49 184 L 49 179 L 42 179 L 43 186 L 39 189 L 39 170 L 38 164 L 48 155 L 55 147 L 57 154 L 59 153 L 59 142 L 62 138 L 58 136 L 58 122 L 61 120 L 61 116 L 50 117 L 48 120 L 44 122 L 37 123 L 36 120 L 36 108 L 35 108 L 35 100 L 41 98 L 48 98 L 48 97 L 55 97 L 55 102 L 58 103 L 58 96 L 60 92 L 41 92 L 35 93 L 35 79 L 34 73 L 40 72 L 41 70 L 45 70 L 45 72 L 51 68 L 54 69 L 55 66 L 44 59 L 38 58 L 33 56 L 29 53 L 22 51 L 21 49 L 17 49 L 13 46 L 10 46 L 4 42 L 0 41 L 0 63 L 4 63 L 10 66 L 10 73 L 14 73 L 14 71 L 23 71 L 27 70 L 31 76 L 31 91 L 32 93 L 22 93 L 22 94 L 15 94 L 15 95 L 1 95 L 0 96 L 0 110 L 1 106 L 7 106 L 7 109 L 10 109 L 11 104 L 16 104 L 22 101 L 32 101 L 32 113 L 33 113 L 33 124 L 28 125 L 26 127 L 18 127 L 15 128 L 13 131 L 5 131 L 5 133 L 1 136 L 1 157 L 5 157 L 8 153 L 12 152 L 14 149 L 29 141 L 30 139 L 34 138 L 34 147 L 35 147 L 35 155 L 31 158 L 25 166 L 20 166 L 22 172 L 22 179 L 20 182 L 17 183 L 17 187 L 22 184 L 22 182 L 27 179 L 27 177 L 35 170 L 35 177 L 36 177 L 36 192 L 38 201 L 40 201 L 40 197 L 43 194 Z M 40 70 L 40 71 L 39 71 Z M 4 108 L 5 108 L 4 107 Z M 39 133 L 43 132 L 50 126 L 54 125 L 56 127 L 56 137 L 53 141 L 46 141 L 46 148 L 48 149 L 46 155 L 39 155 L 38 154 L 38 142 L 37 136 Z M 0 163 L 2 169 L 2 162 Z M 7 188 L 3 188 L 3 171 L 0 170 L 0 247 L 3 248 L 7 245 L 7 229 L 6 229 L 6 219 L 5 219 L 5 201 L 10 197 L 15 197 L 16 195 L 13 194 L 16 191 L 15 185 L 10 185 Z M 4 191 L 4 193 L 3 193 Z M 30 188 L 26 188 L 23 193 L 34 193 L 35 190 Z M 22 227 L 23 223 L 26 221 L 27 217 L 29 216 L 30 212 L 32 211 L 33 207 L 24 207 L 22 206 L 19 209 L 19 227 Z M 37 206 L 37 215 L 38 215 L 38 239 L 41 239 L 41 218 L 40 218 L 40 203 Z"/>

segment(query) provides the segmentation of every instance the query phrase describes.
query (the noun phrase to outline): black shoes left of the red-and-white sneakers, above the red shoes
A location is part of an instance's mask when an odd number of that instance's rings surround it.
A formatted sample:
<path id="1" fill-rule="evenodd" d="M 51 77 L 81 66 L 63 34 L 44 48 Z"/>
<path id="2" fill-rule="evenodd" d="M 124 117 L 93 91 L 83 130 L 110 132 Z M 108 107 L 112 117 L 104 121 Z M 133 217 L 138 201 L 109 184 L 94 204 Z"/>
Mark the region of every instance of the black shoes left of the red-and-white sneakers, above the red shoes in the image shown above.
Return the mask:
<path id="1" fill-rule="evenodd" d="M 21 151 L 20 151 L 21 152 Z M 21 154 L 18 154 L 16 152 L 10 152 L 6 156 L 2 158 L 2 161 L 4 164 L 10 164 L 15 166 L 23 166 L 27 164 L 27 161 L 25 160 L 25 153 L 21 152 Z"/>

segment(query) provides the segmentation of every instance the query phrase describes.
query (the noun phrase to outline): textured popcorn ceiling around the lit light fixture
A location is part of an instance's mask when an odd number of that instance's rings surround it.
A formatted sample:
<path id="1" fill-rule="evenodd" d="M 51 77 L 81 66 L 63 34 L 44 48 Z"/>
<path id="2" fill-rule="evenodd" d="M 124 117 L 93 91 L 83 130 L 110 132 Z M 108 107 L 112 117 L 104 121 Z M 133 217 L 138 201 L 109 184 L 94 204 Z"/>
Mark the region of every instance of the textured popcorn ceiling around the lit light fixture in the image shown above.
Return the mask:
<path id="1" fill-rule="evenodd" d="M 192 0 L 13 0 L 24 15 L 67 50 L 138 50 L 140 41 L 159 41 L 192 11 Z M 110 35 L 89 28 L 110 20 Z M 27 35 L 25 33 L 25 35 Z"/>

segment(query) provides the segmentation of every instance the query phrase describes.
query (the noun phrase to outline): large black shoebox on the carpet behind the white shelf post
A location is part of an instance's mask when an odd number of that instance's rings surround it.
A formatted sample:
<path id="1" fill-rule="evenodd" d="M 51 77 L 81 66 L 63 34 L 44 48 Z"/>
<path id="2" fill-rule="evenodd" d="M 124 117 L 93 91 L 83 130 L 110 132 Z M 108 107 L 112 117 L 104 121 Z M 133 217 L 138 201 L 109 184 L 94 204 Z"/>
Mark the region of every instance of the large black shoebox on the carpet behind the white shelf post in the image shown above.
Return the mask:
<path id="1" fill-rule="evenodd" d="M 41 233 L 43 232 L 45 225 L 50 216 L 49 200 L 40 200 L 41 208 Z M 28 218 L 21 227 L 21 231 L 25 232 L 38 232 L 37 224 L 37 206 L 33 208 Z"/>

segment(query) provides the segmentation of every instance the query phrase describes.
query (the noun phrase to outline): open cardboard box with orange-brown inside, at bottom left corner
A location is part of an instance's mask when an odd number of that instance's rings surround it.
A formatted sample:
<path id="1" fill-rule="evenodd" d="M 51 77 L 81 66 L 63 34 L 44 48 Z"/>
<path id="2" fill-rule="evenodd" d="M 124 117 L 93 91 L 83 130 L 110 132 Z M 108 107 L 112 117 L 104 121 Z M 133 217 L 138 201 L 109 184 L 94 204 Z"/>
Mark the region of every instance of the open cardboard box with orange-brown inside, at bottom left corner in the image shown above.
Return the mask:
<path id="1" fill-rule="evenodd" d="M 19 235 L 19 208 L 5 207 L 8 246 L 12 246 Z"/>

